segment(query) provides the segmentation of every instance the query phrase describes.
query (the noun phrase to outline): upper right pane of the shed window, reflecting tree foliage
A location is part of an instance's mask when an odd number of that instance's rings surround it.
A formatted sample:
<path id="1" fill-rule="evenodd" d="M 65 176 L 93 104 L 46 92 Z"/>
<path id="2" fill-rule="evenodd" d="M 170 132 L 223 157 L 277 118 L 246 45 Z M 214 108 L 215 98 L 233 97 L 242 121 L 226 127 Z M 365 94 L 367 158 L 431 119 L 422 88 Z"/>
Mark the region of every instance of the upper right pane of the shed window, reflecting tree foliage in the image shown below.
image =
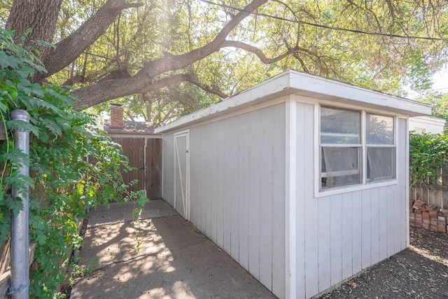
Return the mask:
<path id="1" fill-rule="evenodd" d="M 393 145 L 393 117 L 367 113 L 367 144 Z"/>

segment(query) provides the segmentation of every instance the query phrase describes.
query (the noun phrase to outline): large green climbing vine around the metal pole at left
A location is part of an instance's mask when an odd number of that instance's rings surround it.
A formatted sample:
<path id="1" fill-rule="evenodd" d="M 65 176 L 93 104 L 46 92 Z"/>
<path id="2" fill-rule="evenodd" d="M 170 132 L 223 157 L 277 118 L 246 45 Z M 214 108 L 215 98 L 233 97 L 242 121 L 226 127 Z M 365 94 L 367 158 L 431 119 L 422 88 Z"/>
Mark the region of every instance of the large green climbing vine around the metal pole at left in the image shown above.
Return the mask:
<path id="1" fill-rule="evenodd" d="M 0 141 L 0 245 L 10 235 L 10 217 L 22 209 L 11 188 L 31 188 L 30 241 L 36 243 L 31 271 L 31 298 L 55 298 L 64 280 L 61 265 L 70 249 L 78 249 L 80 218 L 85 210 L 109 202 L 133 200 L 143 205 L 144 192 L 128 193 L 120 171 L 129 171 L 121 148 L 95 127 L 94 118 L 73 111 L 76 101 L 54 85 L 31 83 L 35 71 L 45 71 L 32 52 L 0 32 L 0 120 L 6 139 Z M 10 119 L 24 109 L 28 123 Z M 12 128 L 31 134 L 29 156 L 13 148 Z M 18 163 L 29 163 L 30 178 L 20 175 Z"/>

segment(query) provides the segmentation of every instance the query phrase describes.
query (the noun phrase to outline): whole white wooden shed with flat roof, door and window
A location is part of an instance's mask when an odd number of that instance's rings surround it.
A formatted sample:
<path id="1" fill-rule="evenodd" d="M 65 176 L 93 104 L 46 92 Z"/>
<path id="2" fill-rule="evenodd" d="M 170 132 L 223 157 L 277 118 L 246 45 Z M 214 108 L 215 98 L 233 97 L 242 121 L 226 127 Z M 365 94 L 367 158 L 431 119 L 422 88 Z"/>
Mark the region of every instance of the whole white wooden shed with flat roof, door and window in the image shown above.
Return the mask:
<path id="1" fill-rule="evenodd" d="M 279 298 L 409 245 L 408 118 L 430 106 L 285 71 L 158 128 L 162 197 Z"/>

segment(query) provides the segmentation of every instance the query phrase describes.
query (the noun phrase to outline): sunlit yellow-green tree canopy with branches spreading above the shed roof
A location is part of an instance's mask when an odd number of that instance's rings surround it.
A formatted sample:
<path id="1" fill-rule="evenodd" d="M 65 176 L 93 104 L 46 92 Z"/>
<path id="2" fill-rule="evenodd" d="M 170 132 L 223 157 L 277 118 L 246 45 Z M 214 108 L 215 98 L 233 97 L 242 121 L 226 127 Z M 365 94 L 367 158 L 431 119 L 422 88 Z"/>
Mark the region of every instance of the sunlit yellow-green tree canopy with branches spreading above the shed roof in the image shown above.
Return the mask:
<path id="1" fill-rule="evenodd" d="M 41 49 L 48 73 L 85 109 L 120 99 L 171 118 L 293 68 L 404 95 L 446 62 L 446 1 L 3 1 L 0 21 Z M 9 13 L 9 15 L 8 15 Z M 45 20 L 45 22 L 43 21 Z M 151 113 L 146 113 L 149 104 Z M 104 109 L 104 106 L 103 108 Z"/>

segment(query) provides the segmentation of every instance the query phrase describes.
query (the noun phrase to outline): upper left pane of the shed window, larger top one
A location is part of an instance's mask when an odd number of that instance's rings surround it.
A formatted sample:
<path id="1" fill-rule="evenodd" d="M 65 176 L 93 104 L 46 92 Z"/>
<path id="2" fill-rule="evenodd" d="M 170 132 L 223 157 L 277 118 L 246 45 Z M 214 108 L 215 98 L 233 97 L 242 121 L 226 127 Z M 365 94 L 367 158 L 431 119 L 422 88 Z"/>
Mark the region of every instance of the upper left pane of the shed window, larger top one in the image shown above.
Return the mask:
<path id="1" fill-rule="evenodd" d="M 360 111 L 321 106 L 321 144 L 360 144 Z"/>

